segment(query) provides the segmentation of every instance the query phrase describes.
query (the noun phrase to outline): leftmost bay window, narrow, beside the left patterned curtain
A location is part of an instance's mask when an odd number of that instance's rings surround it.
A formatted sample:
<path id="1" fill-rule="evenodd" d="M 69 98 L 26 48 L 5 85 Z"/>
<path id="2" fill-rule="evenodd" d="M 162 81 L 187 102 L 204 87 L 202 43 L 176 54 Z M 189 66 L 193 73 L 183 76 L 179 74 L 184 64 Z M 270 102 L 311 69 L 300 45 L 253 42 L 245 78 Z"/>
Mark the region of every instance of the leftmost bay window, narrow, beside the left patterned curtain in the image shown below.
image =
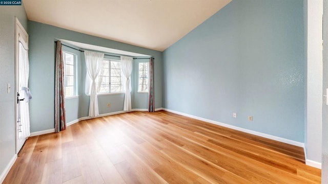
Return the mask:
<path id="1" fill-rule="evenodd" d="M 65 83 L 65 97 L 72 97 L 75 93 L 75 55 L 63 52 L 65 63 L 64 68 L 64 83 Z"/>

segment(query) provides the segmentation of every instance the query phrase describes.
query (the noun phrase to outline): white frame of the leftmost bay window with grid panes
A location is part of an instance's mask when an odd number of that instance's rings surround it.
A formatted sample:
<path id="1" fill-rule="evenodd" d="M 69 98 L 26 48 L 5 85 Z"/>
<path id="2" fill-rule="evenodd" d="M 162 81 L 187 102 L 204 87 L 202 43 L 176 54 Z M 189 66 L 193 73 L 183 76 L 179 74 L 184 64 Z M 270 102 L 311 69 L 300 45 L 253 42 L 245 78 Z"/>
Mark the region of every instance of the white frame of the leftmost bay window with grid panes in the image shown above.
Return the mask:
<path id="1" fill-rule="evenodd" d="M 77 71 L 76 71 L 76 60 L 77 60 L 77 55 L 68 51 L 62 51 L 63 52 L 63 59 L 64 59 L 64 86 L 65 86 L 65 99 L 71 99 L 71 98 L 76 98 L 77 97 Z M 70 54 L 73 56 L 73 64 L 66 64 L 66 54 Z M 68 85 L 66 85 L 66 65 L 73 65 L 73 75 L 69 75 L 69 76 L 73 76 L 73 95 L 71 96 L 67 96 L 66 95 L 66 87 Z M 70 85 L 71 86 L 71 85 Z"/>

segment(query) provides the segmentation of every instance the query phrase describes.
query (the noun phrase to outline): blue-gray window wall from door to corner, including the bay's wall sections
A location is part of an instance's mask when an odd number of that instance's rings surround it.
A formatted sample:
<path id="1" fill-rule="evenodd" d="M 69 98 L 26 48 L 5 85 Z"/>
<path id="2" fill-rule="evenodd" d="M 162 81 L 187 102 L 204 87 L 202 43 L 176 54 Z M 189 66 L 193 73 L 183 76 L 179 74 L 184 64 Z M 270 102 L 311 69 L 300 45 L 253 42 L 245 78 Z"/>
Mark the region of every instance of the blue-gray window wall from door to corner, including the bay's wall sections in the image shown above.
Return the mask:
<path id="1" fill-rule="evenodd" d="M 69 31 L 35 21 L 28 21 L 28 24 L 30 36 L 30 89 L 33 93 L 33 100 L 30 101 L 31 132 L 54 128 L 54 41 L 56 39 L 71 40 L 153 56 L 155 58 L 155 106 L 156 108 L 162 107 L 161 52 Z M 77 54 L 78 57 L 79 97 L 66 100 L 67 122 L 76 120 L 76 118 L 87 117 L 89 112 L 89 97 L 84 94 L 84 80 L 86 75 L 84 53 L 73 50 L 69 51 Z M 132 80 L 134 79 L 132 78 Z M 133 108 L 147 108 L 147 94 L 138 94 L 136 93 L 136 89 L 133 89 L 131 96 Z M 140 99 L 146 99 L 146 101 L 140 101 Z M 123 102 L 123 94 L 98 96 L 99 113 L 103 114 L 123 110 Z M 111 103 L 111 107 L 107 107 L 107 103 Z"/>

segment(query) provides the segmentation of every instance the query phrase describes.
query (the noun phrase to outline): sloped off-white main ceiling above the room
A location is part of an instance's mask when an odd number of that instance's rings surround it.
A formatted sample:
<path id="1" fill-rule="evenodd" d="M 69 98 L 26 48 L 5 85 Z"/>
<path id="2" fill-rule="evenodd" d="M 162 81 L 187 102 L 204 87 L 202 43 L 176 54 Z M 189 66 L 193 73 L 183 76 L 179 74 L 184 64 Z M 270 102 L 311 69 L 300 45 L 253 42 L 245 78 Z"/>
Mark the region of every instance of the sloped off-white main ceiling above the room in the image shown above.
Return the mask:
<path id="1" fill-rule="evenodd" d="M 231 0 L 23 0 L 29 20 L 163 51 Z"/>

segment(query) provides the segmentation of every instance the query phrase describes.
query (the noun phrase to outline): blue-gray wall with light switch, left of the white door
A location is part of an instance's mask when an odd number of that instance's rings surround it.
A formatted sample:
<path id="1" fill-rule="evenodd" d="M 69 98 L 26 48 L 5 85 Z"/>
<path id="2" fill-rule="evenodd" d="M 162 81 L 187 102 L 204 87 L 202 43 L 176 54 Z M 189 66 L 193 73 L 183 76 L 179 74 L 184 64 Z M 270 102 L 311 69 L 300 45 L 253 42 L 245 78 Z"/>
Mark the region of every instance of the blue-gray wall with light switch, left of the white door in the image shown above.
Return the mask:
<path id="1" fill-rule="evenodd" d="M 15 155 L 15 16 L 27 31 L 24 5 L 0 6 L 0 175 Z"/>

